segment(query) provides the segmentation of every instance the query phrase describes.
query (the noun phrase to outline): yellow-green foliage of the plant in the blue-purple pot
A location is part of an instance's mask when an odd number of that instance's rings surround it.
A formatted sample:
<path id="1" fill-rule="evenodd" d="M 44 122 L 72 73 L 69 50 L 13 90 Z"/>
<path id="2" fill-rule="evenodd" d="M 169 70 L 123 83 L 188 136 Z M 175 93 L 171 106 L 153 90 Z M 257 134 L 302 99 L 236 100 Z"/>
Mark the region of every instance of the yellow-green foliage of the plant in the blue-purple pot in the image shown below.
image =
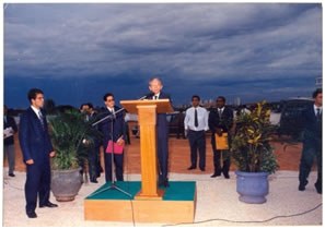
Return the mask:
<path id="1" fill-rule="evenodd" d="M 239 170 L 246 172 L 269 172 L 278 169 L 269 141 L 274 126 L 270 124 L 270 109 L 266 103 L 257 104 L 251 113 L 236 117 L 236 131 L 232 138 L 232 158 Z"/>

